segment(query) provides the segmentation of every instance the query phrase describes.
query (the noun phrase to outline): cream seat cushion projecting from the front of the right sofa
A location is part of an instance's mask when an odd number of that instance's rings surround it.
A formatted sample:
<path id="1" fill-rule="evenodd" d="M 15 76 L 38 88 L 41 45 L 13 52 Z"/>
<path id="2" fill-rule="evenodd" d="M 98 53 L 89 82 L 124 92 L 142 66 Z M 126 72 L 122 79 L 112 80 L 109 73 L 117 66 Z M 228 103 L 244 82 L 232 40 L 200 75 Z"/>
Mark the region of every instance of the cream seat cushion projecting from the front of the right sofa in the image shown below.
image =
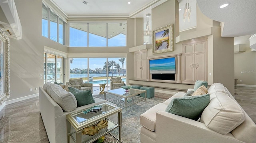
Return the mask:
<path id="1" fill-rule="evenodd" d="M 154 107 L 148 109 L 146 112 L 140 115 L 140 125 L 149 129 L 150 131 L 155 131 L 156 129 L 156 112 L 164 111 L 167 105 L 159 103 Z"/>

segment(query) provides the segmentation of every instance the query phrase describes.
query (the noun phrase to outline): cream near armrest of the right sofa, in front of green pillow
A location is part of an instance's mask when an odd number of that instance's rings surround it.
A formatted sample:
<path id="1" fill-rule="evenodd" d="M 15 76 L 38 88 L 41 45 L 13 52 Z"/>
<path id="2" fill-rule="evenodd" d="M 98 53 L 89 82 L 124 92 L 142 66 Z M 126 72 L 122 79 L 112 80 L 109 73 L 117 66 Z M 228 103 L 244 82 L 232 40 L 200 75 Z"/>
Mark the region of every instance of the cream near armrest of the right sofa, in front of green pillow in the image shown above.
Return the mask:
<path id="1" fill-rule="evenodd" d="M 165 111 L 156 113 L 156 142 L 187 142 L 187 143 L 242 143 L 231 133 L 222 135 L 201 123 Z"/>

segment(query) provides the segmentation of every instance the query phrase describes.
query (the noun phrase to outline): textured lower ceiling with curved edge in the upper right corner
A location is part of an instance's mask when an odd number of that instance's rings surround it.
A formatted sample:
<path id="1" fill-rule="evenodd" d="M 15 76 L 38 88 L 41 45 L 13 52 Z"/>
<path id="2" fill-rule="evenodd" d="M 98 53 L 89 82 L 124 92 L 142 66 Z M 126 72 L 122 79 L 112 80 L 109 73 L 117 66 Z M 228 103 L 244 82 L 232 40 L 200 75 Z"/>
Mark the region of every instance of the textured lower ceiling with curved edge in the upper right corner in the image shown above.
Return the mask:
<path id="1" fill-rule="evenodd" d="M 222 4 L 230 3 L 226 8 Z M 238 37 L 256 33 L 256 0 L 197 0 L 204 15 L 224 22 L 222 37 Z"/>

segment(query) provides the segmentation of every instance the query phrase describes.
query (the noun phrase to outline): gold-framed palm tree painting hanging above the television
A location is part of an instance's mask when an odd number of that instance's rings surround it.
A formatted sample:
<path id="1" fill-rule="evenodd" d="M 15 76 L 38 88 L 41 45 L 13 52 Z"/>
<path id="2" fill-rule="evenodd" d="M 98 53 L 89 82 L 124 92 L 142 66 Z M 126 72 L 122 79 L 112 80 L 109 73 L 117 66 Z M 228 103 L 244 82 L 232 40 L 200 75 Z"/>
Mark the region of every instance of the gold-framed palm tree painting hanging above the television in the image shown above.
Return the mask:
<path id="1" fill-rule="evenodd" d="M 173 24 L 154 30 L 152 42 L 153 54 L 173 51 Z"/>

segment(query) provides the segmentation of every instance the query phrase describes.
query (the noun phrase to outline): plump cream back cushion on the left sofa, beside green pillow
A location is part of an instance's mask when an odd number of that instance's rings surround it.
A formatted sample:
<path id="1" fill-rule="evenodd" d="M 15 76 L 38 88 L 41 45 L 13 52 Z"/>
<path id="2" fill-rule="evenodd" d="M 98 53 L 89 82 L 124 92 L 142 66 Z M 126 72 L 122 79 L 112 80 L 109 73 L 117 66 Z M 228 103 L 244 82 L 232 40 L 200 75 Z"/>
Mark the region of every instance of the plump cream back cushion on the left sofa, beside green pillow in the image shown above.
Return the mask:
<path id="1" fill-rule="evenodd" d="M 64 111 L 70 112 L 76 109 L 77 101 L 72 93 L 62 89 L 60 85 L 54 83 L 45 83 L 44 87 L 46 87 L 48 95 L 50 95 Z"/>

